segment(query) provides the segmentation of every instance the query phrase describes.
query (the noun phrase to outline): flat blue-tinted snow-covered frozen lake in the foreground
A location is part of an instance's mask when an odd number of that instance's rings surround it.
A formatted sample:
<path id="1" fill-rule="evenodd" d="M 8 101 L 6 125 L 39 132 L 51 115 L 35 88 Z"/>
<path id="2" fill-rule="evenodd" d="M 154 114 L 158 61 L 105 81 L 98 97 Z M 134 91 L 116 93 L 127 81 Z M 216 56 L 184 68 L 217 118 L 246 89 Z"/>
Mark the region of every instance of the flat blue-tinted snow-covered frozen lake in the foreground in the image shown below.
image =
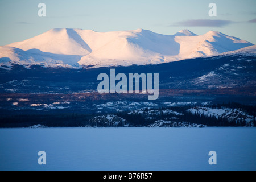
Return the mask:
<path id="1" fill-rule="evenodd" d="M 0 169 L 256 170 L 256 128 L 0 129 Z"/>

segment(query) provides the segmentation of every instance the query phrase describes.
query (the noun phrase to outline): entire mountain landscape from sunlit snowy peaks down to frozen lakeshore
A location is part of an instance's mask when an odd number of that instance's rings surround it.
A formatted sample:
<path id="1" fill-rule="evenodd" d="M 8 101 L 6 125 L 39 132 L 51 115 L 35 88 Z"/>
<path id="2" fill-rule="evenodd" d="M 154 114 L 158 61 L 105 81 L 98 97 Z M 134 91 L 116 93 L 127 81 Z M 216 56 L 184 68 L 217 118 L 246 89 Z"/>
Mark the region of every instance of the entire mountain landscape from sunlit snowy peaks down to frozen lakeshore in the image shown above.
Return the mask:
<path id="1" fill-rule="evenodd" d="M 98 93 L 109 67 L 158 73 L 158 100 Z M 0 46 L 0 127 L 255 126 L 255 68 L 256 46 L 221 32 L 55 28 Z"/>

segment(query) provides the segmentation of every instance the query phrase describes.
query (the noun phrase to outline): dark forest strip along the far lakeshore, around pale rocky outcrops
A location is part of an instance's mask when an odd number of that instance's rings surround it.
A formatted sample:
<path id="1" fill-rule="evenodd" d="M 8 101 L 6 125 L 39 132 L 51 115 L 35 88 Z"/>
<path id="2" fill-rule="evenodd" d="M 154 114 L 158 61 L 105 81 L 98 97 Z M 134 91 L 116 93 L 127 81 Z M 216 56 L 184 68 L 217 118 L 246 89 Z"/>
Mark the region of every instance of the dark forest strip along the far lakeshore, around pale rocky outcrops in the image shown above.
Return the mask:
<path id="1" fill-rule="evenodd" d="M 255 106 L 247 106 L 242 104 L 237 104 L 235 102 L 228 104 L 216 104 L 208 106 L 211 108 L 221 109 L 224 107 L 236 108 L 246 111 L 247 114 L 255 116 Z M 230 121 L 228 118 L 215 118 L 213 115 L 207 117 L 203 114 L 192 114 L 187 110 L 191 106 L 177 106 L 177 107 L 160 107 L 158 109 L 144 109 L 142 114 L 128 114 L 129 111 L 124 111 L 122 113 L 108 113 L 115 114 L 118 117 L 126 119 L 129 126 L 142 127 L 148 126 L 157 120 L 166 120 L 174 122 L 189 122 L 202 124 L 207 126 L 249 126 L 245 120 L 242 121 Z M 176 115 L 175 113 L 163 113 L 163 110 L 173 110 L 181 115 Z M 148 114 L 148 111 L 151 114 Z M 106 114 L 106 113 L 105 113 Z M 29 127 L 33 125 L 43 125 L 47 127 L 84 127 L 90 126 L 90 119 L 93 117 L 104 115 L 104 114 L 81 114 L 81 113 L 46 113 L 46 114 L 14 114 L 14 115 L 2 115 L 0 116 L 0 127 Z M 256 125 L 255 119 L 251 123 Z"/>

